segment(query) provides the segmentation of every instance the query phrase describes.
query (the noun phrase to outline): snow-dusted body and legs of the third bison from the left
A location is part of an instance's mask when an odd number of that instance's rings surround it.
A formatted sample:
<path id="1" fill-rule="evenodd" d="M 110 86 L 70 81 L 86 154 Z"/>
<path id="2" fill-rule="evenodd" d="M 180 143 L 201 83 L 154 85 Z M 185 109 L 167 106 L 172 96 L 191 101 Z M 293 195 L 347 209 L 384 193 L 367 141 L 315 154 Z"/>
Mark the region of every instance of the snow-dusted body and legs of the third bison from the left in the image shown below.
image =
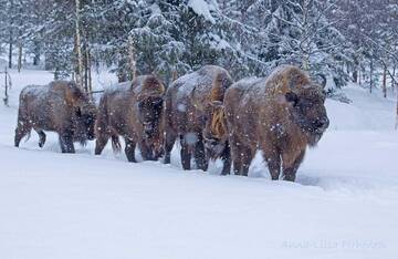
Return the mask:
<path id="1" fill-rule="evenodd" d="M 177 137 L 181 144 L 181 164 L 190 169 L 193 155 L 199 169 L 207 170 L 209 159 L 220 157 L 223 172 L 230 170 L 230 154 L 220 146 L 205 148 L 203 130 L 210 104 L 223 101 L 226 90 L 233 83 L 222 68 L 206 65 L 176 80 L 166 92 L 165 163 L 170 163 L 170 152 Z M 206 137 L 206 136 L 205 136 Z M 206 149 L 208 152 L 206 152 Z"/>

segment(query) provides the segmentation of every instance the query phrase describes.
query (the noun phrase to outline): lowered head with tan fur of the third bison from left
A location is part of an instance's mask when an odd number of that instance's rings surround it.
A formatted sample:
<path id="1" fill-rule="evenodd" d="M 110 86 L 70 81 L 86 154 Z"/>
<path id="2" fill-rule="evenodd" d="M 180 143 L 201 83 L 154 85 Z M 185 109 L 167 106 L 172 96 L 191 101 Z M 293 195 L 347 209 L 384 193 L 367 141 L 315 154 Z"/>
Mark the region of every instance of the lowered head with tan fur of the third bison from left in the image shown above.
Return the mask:
<path id="1" fill-rule="evenodd" d="M 221 102 L 213 101 L 206 110 L 206 126 L 202 132 L 206 155 L 216 159 L 228 146 L 228 132 L 224 107 Z"/>

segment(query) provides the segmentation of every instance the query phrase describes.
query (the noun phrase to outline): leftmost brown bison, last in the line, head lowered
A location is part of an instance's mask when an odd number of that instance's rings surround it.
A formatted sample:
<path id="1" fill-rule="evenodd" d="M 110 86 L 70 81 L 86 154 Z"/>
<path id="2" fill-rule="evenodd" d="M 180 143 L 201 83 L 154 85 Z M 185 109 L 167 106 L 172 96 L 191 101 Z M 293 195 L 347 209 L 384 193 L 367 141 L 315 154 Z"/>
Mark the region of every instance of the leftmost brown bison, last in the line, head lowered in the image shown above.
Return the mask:
<path id="1" fill-rule="evenodd" d="M 53 81 L 49 85 L 29 85 L 21 91 L 15 143 L 33 128 L 45 143 L 44 131 L 60 135 L 62 153 L 74 153 L 73 142 L 94 139 L 96 107 L 74 82 Z"/>

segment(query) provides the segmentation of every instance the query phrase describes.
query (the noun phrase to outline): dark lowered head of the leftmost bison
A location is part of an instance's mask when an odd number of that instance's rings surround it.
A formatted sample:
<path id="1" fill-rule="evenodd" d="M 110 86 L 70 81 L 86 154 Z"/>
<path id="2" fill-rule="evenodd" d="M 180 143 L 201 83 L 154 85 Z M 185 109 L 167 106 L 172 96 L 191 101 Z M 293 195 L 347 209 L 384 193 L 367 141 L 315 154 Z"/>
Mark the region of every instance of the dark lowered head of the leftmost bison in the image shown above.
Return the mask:
<path id="1" fill-rule="evenodd" d="M 92 103 L 77 106 L 76 113 L 76 130 L 74 134 L 75 141 L 85 144 L 85 142 L 95 138 L 95 118 L 96 107 Z"/>

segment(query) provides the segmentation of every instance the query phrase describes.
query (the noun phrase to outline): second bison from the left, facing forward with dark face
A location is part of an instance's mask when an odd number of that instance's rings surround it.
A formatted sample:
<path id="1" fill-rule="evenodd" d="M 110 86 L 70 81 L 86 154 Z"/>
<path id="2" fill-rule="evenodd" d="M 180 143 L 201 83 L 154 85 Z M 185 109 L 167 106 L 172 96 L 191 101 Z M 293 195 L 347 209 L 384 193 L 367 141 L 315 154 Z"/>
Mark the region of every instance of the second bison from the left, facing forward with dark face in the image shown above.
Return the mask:
<path id="1" fill-rule="evenodd" d="M 100 101 L 95 154 L 102 153 L 109 137 L 114 151 L 119 151 L 121 135 L 129 162 L 136 162 L 137 144 L 144 159 L 158 159 L 163 155 L 164 93 L 164 84 L 154 75 L 107 90 Z"/>

